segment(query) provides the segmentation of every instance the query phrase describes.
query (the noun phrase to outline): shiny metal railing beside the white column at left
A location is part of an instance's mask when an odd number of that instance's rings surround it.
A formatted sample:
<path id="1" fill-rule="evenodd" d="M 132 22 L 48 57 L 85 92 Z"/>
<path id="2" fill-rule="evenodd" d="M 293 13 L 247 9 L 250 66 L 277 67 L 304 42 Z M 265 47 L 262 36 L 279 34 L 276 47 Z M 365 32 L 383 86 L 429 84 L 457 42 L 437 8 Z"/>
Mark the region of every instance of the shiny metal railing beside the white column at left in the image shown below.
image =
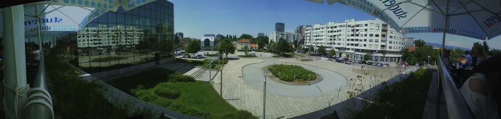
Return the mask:
<path id="1" fill-rule="evenodd" d="M 29 97 L 23 111 L 25 119 L 54 119 L 52 97 L 47 90 L 45 60 L 41 55 L 34 86 L 28 90 Z"/>

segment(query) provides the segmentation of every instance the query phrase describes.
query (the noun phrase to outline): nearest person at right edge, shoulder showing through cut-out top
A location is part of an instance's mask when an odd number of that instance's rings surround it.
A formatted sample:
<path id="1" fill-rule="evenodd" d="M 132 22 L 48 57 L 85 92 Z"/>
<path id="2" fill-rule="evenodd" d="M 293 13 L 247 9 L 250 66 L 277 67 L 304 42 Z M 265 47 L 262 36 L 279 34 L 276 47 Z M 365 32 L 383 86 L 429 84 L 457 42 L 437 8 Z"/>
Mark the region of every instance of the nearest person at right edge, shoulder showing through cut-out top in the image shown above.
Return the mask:
<path id="1" fill-rule="evenodd" d="M 485 60 L 461 79 L 459 93 L 476 119 L 499 119 L 501 55 Z"/>

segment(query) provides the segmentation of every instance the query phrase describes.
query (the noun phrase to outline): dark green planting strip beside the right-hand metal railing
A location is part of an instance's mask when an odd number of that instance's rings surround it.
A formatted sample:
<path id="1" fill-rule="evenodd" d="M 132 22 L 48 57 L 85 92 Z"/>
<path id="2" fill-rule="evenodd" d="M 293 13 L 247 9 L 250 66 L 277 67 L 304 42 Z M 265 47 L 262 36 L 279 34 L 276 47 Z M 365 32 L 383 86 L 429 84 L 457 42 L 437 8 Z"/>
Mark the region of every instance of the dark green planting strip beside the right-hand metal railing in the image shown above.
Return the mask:
<path id="1" fill-rule="evenodd" d="M 353 119 L 421 119 L 432 74 L 418 69 L 401 82 L 383 85 L 374 104 L 355 113 Z"/>

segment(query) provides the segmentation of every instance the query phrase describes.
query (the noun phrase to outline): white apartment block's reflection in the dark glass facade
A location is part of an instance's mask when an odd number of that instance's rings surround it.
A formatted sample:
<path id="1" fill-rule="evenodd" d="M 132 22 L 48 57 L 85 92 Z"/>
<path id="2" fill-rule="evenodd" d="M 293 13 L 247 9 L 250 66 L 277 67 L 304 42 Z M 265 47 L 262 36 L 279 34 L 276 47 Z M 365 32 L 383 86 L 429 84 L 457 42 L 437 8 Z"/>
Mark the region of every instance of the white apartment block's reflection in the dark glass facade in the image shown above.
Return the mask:
<path id="1" fill-rule="evenodd" d="M 143 39 L 144 31 L 136 27 L 116 25 L 107 27 L 100 24 L 98 27 L 84 27 L 77 33 L 79 48 L 97 47 L 98 49 L 117 48 L 123 45 L 127 48 L 139 44 Z"/>

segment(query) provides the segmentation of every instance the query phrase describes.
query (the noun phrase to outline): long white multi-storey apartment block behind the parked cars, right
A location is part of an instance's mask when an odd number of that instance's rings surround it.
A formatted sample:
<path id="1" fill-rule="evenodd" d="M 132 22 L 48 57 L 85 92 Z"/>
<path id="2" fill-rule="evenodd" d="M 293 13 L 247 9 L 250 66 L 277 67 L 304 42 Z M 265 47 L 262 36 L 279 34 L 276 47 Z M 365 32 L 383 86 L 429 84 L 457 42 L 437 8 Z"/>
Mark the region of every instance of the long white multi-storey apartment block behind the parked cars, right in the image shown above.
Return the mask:
<path id="1" fill-rule="evenodd" d="M 379 19 L 329 21 L 304 29 L 304 48 L 314 46 L 313 52 L 323 45 L 328 51 L 335 49 L 337 57 L 362 60 L 369 54 L 370 61 L 399 62 L 404 48 L 405 34 Z"/>

